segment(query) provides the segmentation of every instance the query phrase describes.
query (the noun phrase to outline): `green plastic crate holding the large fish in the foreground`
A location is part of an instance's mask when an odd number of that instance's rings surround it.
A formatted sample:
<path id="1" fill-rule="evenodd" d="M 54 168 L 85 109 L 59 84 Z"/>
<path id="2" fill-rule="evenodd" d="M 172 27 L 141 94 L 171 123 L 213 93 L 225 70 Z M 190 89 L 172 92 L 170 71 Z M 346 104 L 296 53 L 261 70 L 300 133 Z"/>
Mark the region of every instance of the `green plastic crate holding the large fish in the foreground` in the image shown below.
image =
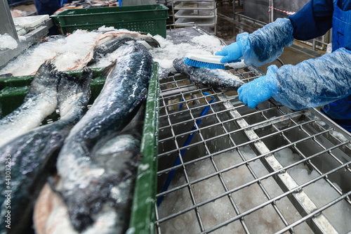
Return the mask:
<path id="1" fill-rule="evenodd" d="M 91 82 L 91 103 L 100 93 L 105 79 L 102 76 L 104 68 L 93 68 Z M 140 152 L 143 154 L 135 181 L 133 205 L 131 207 L 131 221 L 127 233 L 154 233 L 155 197 L 157 189 L 157 153 L 159 139 L 159 64 L 152 66 L 152 77 L 149 82 L 143 137 Z M 70 71 L 69 74 L 79 74 L 82 70 Z M 0 105 L 3 112 L 12 112 L 23 103 L 29 91 L 29 84 L 34 76 L 10 77 L 0 82 L 4 89 L 0 91 Z M 5 78 L 4 78 L 5 79 Z M 4 116 L 4 115 L 3 115 Z M 52 121 L 58 115 L 48 117 Z"/>

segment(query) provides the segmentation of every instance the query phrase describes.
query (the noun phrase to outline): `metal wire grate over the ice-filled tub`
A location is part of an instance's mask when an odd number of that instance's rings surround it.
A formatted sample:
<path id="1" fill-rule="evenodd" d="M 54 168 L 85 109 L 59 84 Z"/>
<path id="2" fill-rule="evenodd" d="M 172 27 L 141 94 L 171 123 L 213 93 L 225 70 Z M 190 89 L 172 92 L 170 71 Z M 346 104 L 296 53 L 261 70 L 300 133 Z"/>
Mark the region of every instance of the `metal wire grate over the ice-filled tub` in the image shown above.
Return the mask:
<path id="1" fill-rule="evenodd" d="M 183 74 L 160 88 L 157 233 L 351 231 L 349 133 L 316 109 L 250 109 Z"/>

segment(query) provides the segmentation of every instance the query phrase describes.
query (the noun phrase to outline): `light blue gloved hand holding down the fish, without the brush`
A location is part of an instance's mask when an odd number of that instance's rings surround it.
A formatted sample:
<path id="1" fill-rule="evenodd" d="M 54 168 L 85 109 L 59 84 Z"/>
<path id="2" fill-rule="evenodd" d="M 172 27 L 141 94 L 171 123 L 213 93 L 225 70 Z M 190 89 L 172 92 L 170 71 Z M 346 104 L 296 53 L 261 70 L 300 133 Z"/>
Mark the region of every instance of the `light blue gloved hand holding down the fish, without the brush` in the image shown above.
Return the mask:
<path id="1" fill-rule="evenodd" d="M 252 82 L 244 84 L 238 89 L 239 100 L 249 108 L 256 108 L 259 103 L 268 100 L 277 91 L 274 73 L 254 79 Z"/>

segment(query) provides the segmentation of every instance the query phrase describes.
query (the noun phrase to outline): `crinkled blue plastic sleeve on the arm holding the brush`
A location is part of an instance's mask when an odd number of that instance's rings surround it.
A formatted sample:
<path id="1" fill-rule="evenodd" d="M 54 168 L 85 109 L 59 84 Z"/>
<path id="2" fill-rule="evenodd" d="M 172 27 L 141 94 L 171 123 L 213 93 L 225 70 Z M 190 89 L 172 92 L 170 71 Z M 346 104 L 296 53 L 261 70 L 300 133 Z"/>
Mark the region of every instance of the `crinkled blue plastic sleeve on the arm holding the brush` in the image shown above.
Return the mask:
<path id="1" fill-rule="evenodd" d="M 259 67 L 276 60 L 285 46 L 293 44 L 293 26 L 289 19 L 278 18 L 251 34 L 238 34 L 237 41 L 243 46 L 244 62 Z"/>

